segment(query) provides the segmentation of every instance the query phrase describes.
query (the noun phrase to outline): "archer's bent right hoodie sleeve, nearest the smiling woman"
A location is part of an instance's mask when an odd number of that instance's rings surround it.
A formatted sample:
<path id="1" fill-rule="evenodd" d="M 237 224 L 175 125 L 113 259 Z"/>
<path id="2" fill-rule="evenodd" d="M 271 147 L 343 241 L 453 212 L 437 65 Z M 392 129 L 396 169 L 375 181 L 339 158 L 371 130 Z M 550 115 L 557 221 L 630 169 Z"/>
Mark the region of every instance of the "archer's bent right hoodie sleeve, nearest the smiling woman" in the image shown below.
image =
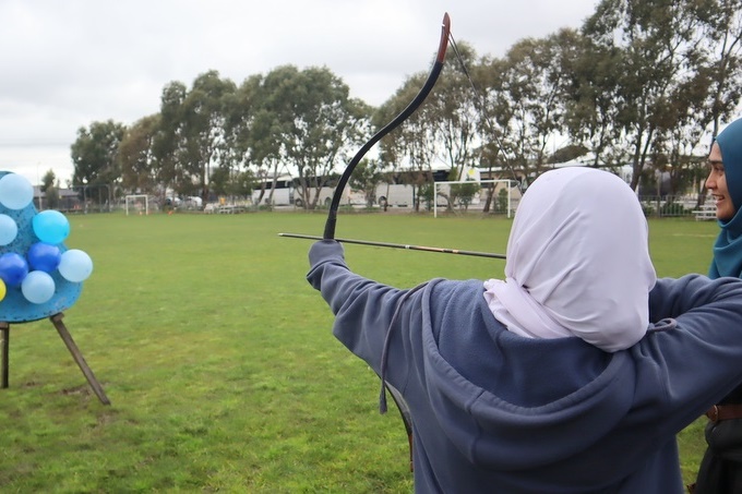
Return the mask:
<path id="1" fill-rule="evenodd" d="M 649 293 L 649 317 L 674 323 L 632 349 L 642 373 L 637 399 L 661 399 L 662 426 L 677 431 L 742 382 L 742 281 L 660 279 Z"/>

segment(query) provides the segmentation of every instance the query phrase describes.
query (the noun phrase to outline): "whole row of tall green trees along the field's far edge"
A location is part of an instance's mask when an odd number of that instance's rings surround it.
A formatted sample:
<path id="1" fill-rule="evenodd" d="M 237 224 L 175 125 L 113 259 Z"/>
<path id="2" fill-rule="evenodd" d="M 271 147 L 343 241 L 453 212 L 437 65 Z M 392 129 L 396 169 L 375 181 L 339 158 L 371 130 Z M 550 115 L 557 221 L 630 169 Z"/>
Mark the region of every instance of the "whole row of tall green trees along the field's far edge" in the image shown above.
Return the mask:
<path id="1" fill-rule="evenodd" d="M 503 57 L 455 44 L 362 180 L 442 164 L 453 177 L 479 167 L 527 181 L 583 157 L 631 165 L 639 191 L 662 172 L 665 193 L 684 193 L 703 183 L 710 140 L 739 110 L 741 45 L 742 0 L 602 0 L 578 29 L 522 39 Z M 328 68 L 284 65 L 239 85 L 213 70 L 190 87 L 170 82 L 158 113 L 79 129 L 72 184 L 208 201 L 290 172 L 313 208 L 319 178 L 342 170 L 426 77 L 409 76 L 380 107 L 351 98 Z"/>

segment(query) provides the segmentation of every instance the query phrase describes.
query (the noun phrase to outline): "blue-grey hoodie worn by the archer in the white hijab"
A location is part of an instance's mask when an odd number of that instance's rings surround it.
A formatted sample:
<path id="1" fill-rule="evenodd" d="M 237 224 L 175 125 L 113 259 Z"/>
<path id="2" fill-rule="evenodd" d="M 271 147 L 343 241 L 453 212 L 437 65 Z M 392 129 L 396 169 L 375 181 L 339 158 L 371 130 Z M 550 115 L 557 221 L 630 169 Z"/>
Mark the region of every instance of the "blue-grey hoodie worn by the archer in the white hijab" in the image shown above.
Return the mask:
<path id="1" fill-rule="evenodd" d="M 649 333 L 608 353 L 510 333 L 480 280 L 399 290 L 337 242 L 309 257 L 334 335 L 409 406 L 416 492 L 681 493 L 675 434 L 742 382 L 734 278 L 659 280 Z"/>

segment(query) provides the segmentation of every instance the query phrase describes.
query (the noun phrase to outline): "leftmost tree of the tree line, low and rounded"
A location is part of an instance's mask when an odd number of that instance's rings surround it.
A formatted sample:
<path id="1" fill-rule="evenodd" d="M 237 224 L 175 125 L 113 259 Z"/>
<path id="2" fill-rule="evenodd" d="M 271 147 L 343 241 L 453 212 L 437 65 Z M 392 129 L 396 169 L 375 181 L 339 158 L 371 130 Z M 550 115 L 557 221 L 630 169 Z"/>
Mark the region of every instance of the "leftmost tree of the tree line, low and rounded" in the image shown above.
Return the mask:
<path id="1" fill-rule="evenodd" d="M 121 178 L 118 153 L 125 129 L 125 125 L 112 120 L 77 129 L 77 138 L 70 147 L 74 166 L 72 184 L 83 188 L 83 193 L 87 189 L 100 189 L 94 200 L 104 201 L 105 197 L 110 202 L 113 198 L 116 184 Z"/>

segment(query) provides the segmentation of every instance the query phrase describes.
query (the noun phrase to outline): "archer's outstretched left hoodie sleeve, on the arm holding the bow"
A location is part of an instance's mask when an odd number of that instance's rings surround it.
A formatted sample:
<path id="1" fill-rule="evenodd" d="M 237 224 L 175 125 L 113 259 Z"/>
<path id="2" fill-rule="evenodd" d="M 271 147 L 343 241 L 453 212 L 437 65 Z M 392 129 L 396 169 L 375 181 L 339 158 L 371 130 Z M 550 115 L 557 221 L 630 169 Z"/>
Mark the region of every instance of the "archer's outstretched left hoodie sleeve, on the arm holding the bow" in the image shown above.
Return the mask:
<path id="1" fill-rule="evenodd" d="M 314 243 L 309 251 L 309 263 L 307 280 L 320 290 L 335 314 L 333 334 L 381 375 L 387 333 L 392 332 L 394 339 L 399 338 L 399 328 L 409 318 L 414 304 L 404 303 L 409 290 L 399 290 L 354 274 L 345 263 L 343 246 L 334 240 Z M 395 328 L 392 328 L 390 325 L 400 304 Z M 395 344 L 392 346 L 399 348 Z"/>

